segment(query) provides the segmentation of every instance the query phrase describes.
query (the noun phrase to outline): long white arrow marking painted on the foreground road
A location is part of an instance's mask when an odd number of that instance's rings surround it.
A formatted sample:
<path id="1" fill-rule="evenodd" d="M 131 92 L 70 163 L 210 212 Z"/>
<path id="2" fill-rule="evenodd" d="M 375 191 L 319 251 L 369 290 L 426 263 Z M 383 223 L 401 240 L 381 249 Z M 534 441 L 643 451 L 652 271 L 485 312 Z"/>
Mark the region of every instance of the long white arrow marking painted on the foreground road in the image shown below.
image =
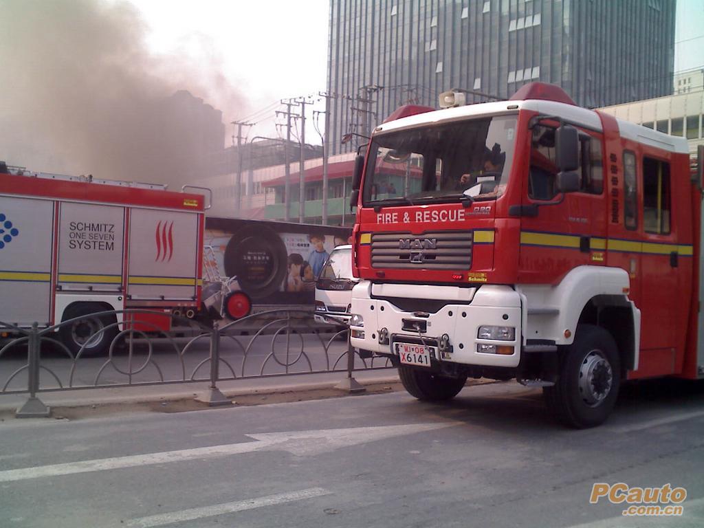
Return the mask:
<path id="1" fill-rule="evenodd" d="M 82 460 L 64 464 L 23 467 L 18 470 L 0 471 L 0 482 L 14 482 L 41 477 L 57 477 L 64 474 L 87 473 L 94 471 L 116 470 L 124 467 L 165 464 L 182 460 L 219 458 L 252 451 L 288 451 L 294 455 L 317 455 L 334 451 L 337 448 L 371 441 L 434 431 L 457 425 L 458 422 L 439 422 L 410 425 L 383 425 L 377 427 L 351 427 L 346 429 L 318 429 L 313 431 L 291 431 L 276 433 L 247 434 L 256 441 L 222 444 L 161 453 L 127 455 L 96 460 Z"/>

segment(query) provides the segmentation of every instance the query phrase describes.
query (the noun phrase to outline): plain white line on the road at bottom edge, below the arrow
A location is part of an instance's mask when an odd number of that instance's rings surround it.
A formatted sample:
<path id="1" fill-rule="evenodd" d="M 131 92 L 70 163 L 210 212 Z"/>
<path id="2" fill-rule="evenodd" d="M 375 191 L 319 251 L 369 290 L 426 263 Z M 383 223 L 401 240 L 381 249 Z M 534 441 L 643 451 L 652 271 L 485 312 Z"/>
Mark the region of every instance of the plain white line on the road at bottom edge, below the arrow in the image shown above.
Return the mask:
<path id="1" fill-rule="evenodd" d="M 291 491 L 287 494 L 268 495 L 259 498 L 249 498 L 246 501 L 215 504 L 204 508 L 191 508 L 189 510 L 181 510 L 179 512 L 140 517 L 139 519 L 134 519 L 127 522 L 126 525 L 128 527 L 135 528 L 153 528 L 157 526 L 164 526 L 165 524 L 172 524 L 174 522 L 192 521 L 195 519 L 202 519 L 203 517 L 215 517 L 215 515 L 223 515 L 225 513 L 235 513 L 244 510 L 253 510 L 254 508 L 263 508 L 264 506 L 303 501 L 303 499 L 306 498 L 320 497 L 323 495 L 329 495 L 330 493 L 330 491 L 323 488 L 309 488 L 301 491 Z"/>

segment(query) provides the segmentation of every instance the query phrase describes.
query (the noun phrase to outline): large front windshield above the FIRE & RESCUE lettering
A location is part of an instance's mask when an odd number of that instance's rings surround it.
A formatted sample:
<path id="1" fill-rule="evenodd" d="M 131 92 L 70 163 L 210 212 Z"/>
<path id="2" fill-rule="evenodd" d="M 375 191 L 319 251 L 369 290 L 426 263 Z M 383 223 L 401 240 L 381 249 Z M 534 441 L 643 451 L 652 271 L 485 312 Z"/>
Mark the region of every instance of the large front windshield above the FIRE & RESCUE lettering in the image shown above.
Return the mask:
<path id="1" fill-rule="evenodd" d="M 370 148 L 363 204 L 494 200 L 508 184 L 515 134 L 515 115 L 379 134 Z"/>

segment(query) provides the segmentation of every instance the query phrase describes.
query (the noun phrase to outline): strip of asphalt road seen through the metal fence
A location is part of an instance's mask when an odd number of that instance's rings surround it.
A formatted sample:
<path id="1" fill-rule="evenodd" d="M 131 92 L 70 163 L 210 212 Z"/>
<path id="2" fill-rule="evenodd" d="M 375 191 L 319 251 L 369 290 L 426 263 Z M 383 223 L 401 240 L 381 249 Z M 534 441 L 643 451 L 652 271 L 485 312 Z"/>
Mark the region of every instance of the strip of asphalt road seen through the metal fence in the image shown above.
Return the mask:
<path id="1" fill-rule="evenodd" d="M 118 347 L 111 356 L 82 356 L 75 361 L 61 348 L 44 346 L 40 385 L 42 389 L 54 389 L 60 383 L 64 387 L 80 387 L 208 379 L 208 336 L 188 343 L 189 339 L 137 339 L 131 359 L 127 348 Z M 263 334 L 256 338 L 224 336 L 220 343 L 221 378 L 345 370 L 347 366 L 347 344 L 344 340 L 334 339 L 334 333 Z M 4 353 L 0 358 L 0 390 L 26 363 L 26 346 Z M 376 358 L 373 366 L 384 363 L 385 360 Z M 356 367 L 365 365 L 372 366 L 372 362 L 366 360 L 363 363 L 356 356 Z M 7 390 L 26 387 L 25 371 L 10 380 Z"/>

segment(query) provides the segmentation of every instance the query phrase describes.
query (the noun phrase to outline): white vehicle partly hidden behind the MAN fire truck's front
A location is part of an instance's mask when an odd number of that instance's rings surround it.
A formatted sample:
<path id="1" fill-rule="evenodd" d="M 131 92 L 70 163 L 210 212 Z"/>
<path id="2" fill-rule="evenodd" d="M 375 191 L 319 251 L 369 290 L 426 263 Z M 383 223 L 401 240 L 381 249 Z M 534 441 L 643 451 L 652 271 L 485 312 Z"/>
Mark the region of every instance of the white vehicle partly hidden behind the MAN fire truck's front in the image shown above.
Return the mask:
<path id="1" fill-rule="evenodd" d="M 357 282 L 359 279 L 352 276 L 352 246 L 337 246 L 315 282 L 315 321 L 347 325 L 352 288 Z"/>

